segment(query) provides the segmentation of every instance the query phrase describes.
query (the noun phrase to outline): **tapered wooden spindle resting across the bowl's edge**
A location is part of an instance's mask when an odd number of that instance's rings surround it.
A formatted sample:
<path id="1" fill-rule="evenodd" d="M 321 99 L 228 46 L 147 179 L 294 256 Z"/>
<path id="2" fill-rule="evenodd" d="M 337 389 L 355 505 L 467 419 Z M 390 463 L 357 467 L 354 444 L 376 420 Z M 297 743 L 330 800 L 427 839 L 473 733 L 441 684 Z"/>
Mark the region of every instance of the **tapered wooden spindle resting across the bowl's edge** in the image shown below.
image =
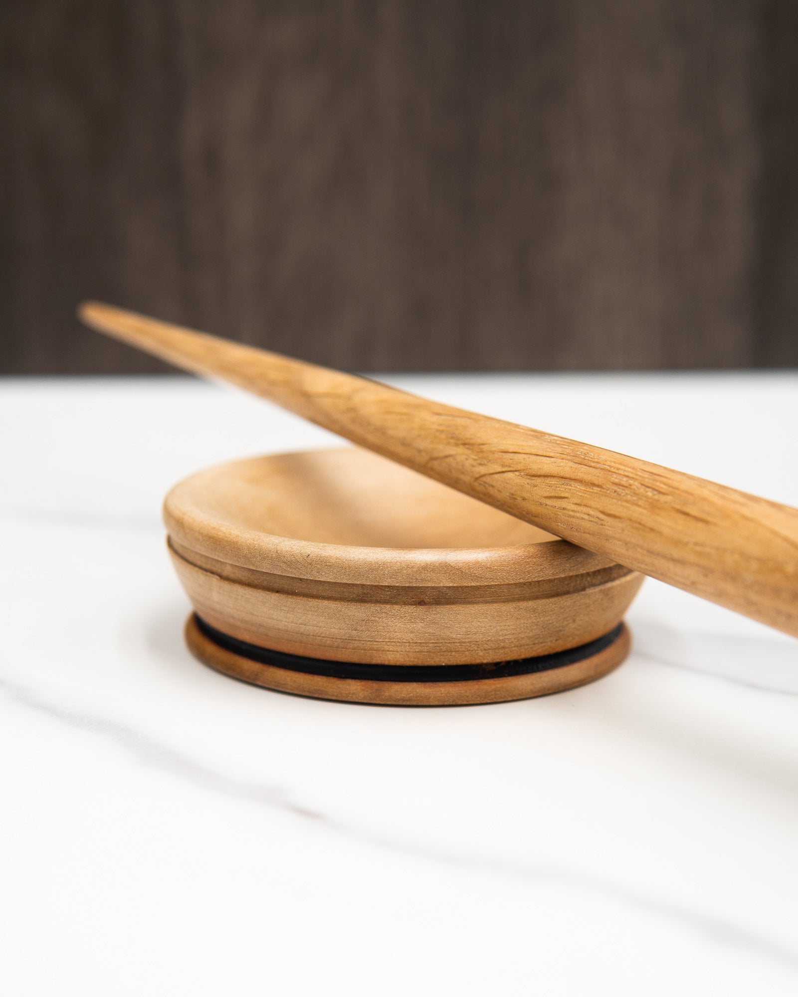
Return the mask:
<path id="1" fill-rule="evenodd" d="M 87 302 L 90 326 L 798 636 L 798 510 L 588 444 Z"/>

